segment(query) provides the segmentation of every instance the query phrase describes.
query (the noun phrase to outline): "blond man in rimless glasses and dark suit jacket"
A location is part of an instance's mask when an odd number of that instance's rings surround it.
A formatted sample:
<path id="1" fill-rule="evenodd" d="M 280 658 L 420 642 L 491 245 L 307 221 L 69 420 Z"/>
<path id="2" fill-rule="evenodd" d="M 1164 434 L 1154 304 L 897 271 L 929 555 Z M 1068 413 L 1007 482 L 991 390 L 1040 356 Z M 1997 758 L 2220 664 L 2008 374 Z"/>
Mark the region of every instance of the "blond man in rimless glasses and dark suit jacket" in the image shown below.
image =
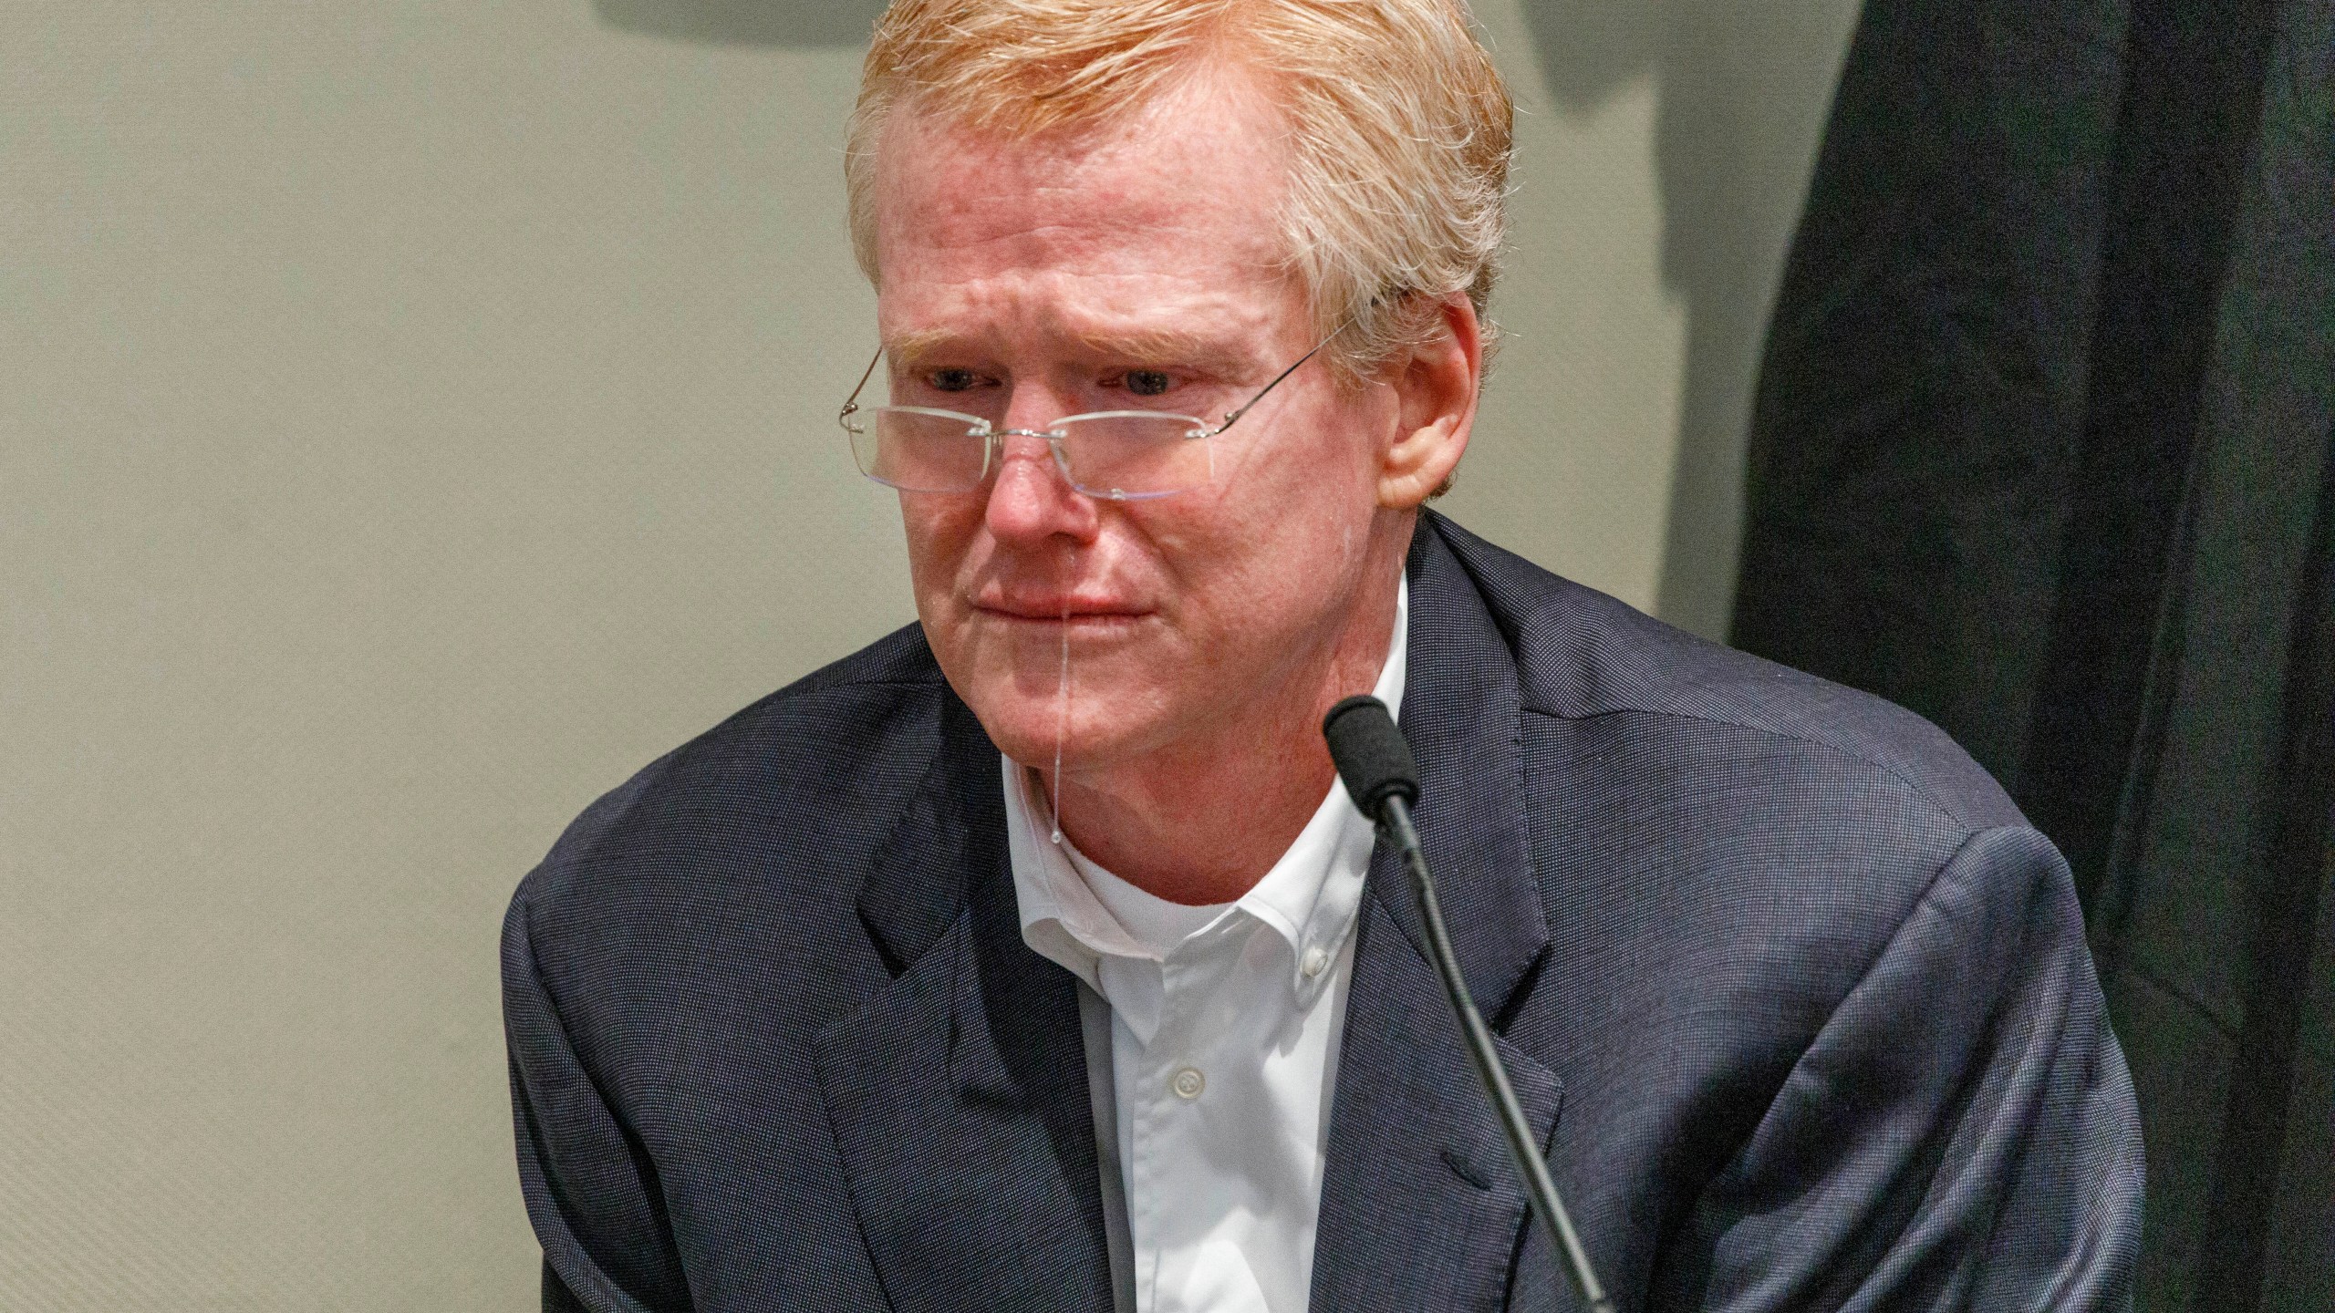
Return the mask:
<path id="1" fill-rule="evenodd" d="M 1508 100 L 1457 0 L 901 0 L 852 128 L 920 626 L 504 930 L 546 1308 L 1569 1299 L 1322 713 L 1399 703 L 1620 1308 L 2109 1308 L 2064 864 L 1936 731 L 1424 509 Z"/>

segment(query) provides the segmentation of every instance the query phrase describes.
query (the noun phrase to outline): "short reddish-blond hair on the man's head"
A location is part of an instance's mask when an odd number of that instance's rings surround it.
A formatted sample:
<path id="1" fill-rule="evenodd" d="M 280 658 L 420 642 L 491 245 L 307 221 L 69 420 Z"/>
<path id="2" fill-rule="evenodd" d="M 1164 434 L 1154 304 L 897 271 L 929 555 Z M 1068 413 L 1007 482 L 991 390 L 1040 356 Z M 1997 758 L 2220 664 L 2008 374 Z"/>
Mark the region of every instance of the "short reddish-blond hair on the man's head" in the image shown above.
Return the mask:
<path id="1" fill-rule="evenodd" d="M 1513 107 L 1464 0 L 894 0 L 869 47 L 845 180 L 878 280 L 876 150 L 913 103 L 1032 138 L 1144 105 L 1196 58 L 1273 79 L 1291 126 L 1287 259 L 1350 378 L 1438 332 L 1436 301 L 1487 304 L 1506 231 Z"/>

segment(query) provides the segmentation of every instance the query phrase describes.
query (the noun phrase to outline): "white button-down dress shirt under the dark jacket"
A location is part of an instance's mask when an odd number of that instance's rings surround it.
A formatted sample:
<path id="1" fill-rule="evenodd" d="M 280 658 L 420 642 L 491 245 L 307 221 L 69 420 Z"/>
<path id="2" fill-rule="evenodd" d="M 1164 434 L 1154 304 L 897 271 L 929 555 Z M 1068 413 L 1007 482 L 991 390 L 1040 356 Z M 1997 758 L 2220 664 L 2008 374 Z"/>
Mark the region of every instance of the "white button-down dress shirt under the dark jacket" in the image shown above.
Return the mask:
<path id="1" fill-rule="evenodd" d="M 1403 582 L 1371 689 L 1389 708 L 1408 628 Z M 1053 841 L 1044 790 L 1011 759 L 1004 794 L 1023 939 L 1111 1009 L 1137 1311 L 1303 1311 L 1371 822 L 1331 783 L 1249 892 L 1182 906 Z"/>

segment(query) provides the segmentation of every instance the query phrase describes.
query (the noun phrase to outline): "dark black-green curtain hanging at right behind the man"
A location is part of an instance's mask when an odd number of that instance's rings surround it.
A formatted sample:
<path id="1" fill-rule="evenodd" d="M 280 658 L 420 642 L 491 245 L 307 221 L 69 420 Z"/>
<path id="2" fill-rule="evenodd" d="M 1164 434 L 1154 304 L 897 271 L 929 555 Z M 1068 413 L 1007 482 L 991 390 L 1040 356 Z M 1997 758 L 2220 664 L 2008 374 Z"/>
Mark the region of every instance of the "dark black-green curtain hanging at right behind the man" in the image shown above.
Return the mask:
<path id="1" fill-rule="evenodd" d="M 2066 853 L 2144 1311 L 2335 1308 L 2335 0 L 1868 0 L 1770 325 L 1735 642 Z"/>

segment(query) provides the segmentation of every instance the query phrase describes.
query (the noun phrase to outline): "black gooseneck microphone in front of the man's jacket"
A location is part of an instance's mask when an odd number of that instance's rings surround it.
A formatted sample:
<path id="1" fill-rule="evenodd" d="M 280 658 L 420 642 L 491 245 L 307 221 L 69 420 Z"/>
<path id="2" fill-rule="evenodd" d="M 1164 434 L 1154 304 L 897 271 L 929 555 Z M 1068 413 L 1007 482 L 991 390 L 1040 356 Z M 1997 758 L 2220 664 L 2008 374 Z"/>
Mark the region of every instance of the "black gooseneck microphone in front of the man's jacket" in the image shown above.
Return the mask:
<path id="1" fill-rule="evenodd" d="M 1485 1028 L 1476 1000 L 1466 993 L 1450 935 L 1443 932 L 1436 878 L 1427 871 L 1420 832 L 1410 825 L 1410 804 L 1420 801 L 1420 766 L 1410 759 L 1410 741 L 1394 727 L 1387 703 L 1373 696 L 1345 699 L 1329 708 L 1329 715 L 1322 717 L 1322 738 L 1329 738 L 1329 759 L 1338 764 L 1338 778 L 1345 780 L 1354 806 L 1378 822 L 1378 832 L 1403 855 L 1410 892 L 1420 899 L 1420 921 L 1427 923 L 1427 956 L 1434 958 L 1436 974 L 1443 977 L 1443 993 L 1452 1000 L 1452 1012 L 1459 1014 L 1459 1030 L 1466 1033 L 1466 1051 L 1476 1058 L 1476 1075 L 1483 1077 L 1492 1112 L 1499 1114 L 1499 1126 L 1508 1133 L 1508 1154 L 1515 1156 L 1515 1170 L 1525 1175 L 1532 1210 L 1541 1215 L 1548 1241 L 1564 1259 L 1564 1276 L 1571 1278 L 1574 1294 L 1590 1313 L 1613 1313 L 1613 1301 L 1597 1285 L 1597 1271 L 1590 1269 L 1590 1255 L 1581 1248 L 1574 1220 L 1567 1217 L 1564 1201 L 1557 1199 L 1557 1182 L 1548 1180 L 1548 1163 L 1541 1161 L 1541 1149 L 1532 1142 L 1532 1126 L 1515 1103 L 1515 1086 L 1508 1084 L 1508 1070 L 1499 1065 L 1499 1051 L 1492 1049 L 1492 1030 Z"/>

